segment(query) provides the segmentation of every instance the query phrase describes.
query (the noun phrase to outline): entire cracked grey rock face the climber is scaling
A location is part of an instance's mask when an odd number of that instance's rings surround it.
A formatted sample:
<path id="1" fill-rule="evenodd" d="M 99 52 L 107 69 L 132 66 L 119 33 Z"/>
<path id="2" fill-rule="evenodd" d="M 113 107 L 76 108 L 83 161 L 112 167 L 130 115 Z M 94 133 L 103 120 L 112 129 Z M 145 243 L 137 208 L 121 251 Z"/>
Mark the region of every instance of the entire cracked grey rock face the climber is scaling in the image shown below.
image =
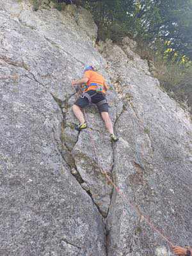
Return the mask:
<path id="1" fill-rule="evenodd" d="M 170 255 L 130 202 L 173 243 L 191 244 L 188 113 L 159 89 L 132 40 L 102 43 L 101 55 L 90 13 L 44 2 L 37 12 L 30 1 L 0 3 L 0 255 Z M 94 106 L 88 129 L 74 129 L 70 81 L 86 64 L 113 84 L 113 145 Z"/>

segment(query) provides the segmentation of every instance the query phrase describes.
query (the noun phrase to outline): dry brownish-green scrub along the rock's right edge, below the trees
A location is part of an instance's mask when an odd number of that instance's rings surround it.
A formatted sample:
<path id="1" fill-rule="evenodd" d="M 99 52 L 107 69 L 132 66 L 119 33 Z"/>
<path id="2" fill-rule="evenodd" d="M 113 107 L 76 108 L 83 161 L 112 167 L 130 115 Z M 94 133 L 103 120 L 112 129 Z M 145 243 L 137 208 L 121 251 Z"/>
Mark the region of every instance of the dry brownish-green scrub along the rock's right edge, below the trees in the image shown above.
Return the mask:
<path id="1" fill-rule="evenodd" d="M 161 89 L 192 113 L 192 62 L 182 61 L 179 53 L 170 60 L 170 55 L 164 53 L 166 45 L 161 42 L 155 50 L 140 42 L 136 51 L 148 60 L 150 72 L 159 80 Z"/>

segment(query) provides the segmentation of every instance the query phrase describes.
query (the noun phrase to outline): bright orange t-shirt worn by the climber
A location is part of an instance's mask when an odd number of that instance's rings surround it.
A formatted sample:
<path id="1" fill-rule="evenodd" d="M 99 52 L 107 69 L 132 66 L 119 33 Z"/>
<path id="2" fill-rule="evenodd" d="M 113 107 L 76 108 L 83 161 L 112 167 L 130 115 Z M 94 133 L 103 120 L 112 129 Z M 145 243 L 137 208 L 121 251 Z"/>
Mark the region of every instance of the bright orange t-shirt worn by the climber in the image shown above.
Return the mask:
<path id="1" fill-rule="evenodd" d="M 97 73 L 93 70 L 88 70 L 88 71 L 84 72 L 84 77 L 88 78 L 88 82 L 87 82 L 88 85 L 91 83 L 96 83 L 96 84 L 102 85 L 103 92 L 105 92 L 105 90 L 104 90 L 105 79 L 102 75 L 100 75 L 99 73 Z M 88 89 L 86 89 L 86 92 L 88 92 L 90 90 L 95 90 L 95 86 L 89 86 Z"/>

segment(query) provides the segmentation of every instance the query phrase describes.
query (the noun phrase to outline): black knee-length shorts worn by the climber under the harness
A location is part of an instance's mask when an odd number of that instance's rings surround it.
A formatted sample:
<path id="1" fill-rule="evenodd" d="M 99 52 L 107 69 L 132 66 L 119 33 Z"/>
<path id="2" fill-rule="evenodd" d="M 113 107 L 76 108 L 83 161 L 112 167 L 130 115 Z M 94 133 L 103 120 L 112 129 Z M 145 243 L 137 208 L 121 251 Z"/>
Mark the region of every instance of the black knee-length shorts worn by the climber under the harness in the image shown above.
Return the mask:
<path id="1" fill-rule="evenodd" d="M 89 95 L 93 95 L 95 93 L 94 90 L 90 90 L 87 92 Z M 102 93 L 97 93 L 92 97 L 92 103 L 97 104 L 100 100 L 104 100 L 106 97 Z M 75 105 L 79 106 L 79 108 L 85 108 L 88 106 L 89 102 L 86 97 L 81 98 L 79 97 L 76 102 L 74 103 Z M 99 112 L 109 112 L 109 107 L 108 103 L 104 103 L 101 106 L 98 106 Z"/>

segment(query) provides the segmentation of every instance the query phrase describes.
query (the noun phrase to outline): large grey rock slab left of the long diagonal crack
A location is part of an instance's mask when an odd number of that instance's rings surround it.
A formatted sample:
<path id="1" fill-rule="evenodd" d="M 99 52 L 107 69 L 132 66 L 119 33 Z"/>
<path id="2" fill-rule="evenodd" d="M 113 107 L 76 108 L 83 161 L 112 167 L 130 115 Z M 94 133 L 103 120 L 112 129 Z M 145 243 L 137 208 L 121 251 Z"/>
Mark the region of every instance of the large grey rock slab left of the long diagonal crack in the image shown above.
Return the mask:
<path id="1" fill-rule="evenodd" d="M 106 255 L 102 216 L 62 156 L 58 104 L 100 56 L 70 15 L 26 5 L 0 4 L 0 254 Z"/>

